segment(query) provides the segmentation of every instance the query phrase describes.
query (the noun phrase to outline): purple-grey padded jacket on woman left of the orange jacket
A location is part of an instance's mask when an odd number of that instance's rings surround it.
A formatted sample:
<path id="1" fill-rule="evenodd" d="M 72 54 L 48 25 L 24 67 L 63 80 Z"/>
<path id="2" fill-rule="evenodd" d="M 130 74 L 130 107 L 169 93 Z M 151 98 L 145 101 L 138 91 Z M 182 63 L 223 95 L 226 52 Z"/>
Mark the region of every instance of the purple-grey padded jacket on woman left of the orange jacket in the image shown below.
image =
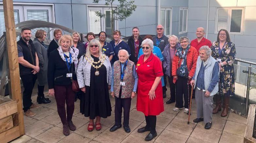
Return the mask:
<path id="1" fill-rule="evenodd" d="M 176 44 L 175 48 L 179 47 L 179 43 Z M 171 70 L 172 70 L 172 63 L 171 63 L 171 57 L 170 57 L 170 44 L 165 45 L 163 49 L 163 69 L 165 70 L 166 75 L 171 77 Z"/>

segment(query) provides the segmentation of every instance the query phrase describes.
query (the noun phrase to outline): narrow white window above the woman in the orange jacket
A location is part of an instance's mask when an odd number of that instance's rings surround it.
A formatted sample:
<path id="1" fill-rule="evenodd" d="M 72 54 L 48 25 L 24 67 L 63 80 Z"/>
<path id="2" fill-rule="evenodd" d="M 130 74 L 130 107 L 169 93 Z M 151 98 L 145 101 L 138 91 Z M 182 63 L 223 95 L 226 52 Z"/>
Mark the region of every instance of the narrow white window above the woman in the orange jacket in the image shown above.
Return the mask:
<path id="1" fill-rule="evenodd" d="M 188 25 L 188 8 L 180 7 L 179 9 L 179 34 L 187 32 Z"/>

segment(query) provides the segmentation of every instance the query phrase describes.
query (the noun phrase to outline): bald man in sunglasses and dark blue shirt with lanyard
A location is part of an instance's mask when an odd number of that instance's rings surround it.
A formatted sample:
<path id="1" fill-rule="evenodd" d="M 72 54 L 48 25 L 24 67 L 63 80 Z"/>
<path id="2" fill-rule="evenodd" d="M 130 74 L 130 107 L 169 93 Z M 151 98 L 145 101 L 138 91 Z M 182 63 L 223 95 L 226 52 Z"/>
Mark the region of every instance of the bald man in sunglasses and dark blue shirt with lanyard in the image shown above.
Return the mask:
<path id="1" fill-rule="evenodd" d="M 157 46 L 160 48 L 161 52 L 163 52 L 163 49 L 165 47 L 165 45 L 169 44 L 168 42 L 168 37 L 166 37 L 163 32 L 163 26 L 162 25 L 157 25 L 157 35 L 155 35 L 154 37 L 152 37 L 153 39 L 153 43 L 154 46 Z M 163 73 L 165 73 L 164 69 L 163 69 Z M 162 86 L 162 90 L 163 90 L 163 98 L 166 98 L 166 74 L 163 75 L 163 81 L 164 81 L 164 86 Z"/>

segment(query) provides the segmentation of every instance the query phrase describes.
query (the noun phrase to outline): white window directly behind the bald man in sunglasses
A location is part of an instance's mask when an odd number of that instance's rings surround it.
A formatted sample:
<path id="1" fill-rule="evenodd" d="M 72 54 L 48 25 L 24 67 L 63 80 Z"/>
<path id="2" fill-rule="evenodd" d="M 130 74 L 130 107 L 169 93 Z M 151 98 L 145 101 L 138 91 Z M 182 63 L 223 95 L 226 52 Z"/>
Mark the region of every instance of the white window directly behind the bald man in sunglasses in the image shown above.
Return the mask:
<path id="1" fill-rule="evenodd" d="M 164 28 L 164 35 L 170 35 L 171 34 L 171 15 L 172 15 L 172 9 L 171 8 L 164 8 L 161 7 L 160 9 L 160 24 Z"/>

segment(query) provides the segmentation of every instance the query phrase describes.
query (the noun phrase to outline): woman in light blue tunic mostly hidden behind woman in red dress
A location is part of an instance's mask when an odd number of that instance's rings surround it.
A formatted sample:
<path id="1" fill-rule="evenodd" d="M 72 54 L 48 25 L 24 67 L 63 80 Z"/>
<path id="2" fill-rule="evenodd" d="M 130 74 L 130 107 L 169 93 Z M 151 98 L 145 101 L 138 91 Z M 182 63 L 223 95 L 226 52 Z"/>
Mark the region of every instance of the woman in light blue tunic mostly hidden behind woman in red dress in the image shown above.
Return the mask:
<path id="1" fill-rule="evenodd" d="M 143 40 L 145 40 L 145 39 L 150 39 L 150 40 L 153 41 L 152 36 L 150 36 L 150 35 L 146 35 L 146 36 L 143 38 Z M 154 47 L 153 47 L 153 50 L 152 50 L 152 53 L 153 53 L 154 55 L 156 55 L 156 56 L 160 59 L 161 62 L 164 60 L 163 55 L 162 55 L 162 52 L 161 52 L 161 50 L 160 50 L 159 47 L 154 46 Z M 143 55 L 142 48 L 140 48 L 140 51 L 139 51 L 139 54 L 138 54 L 138 60 L 139 60 L 139 58 L 140 58 L 141 55 Z M 162 76 L 162 78 L 161 78 L 161 82 L 162 82 L 162 86 L 164 86 L 163 76 Z"/>

